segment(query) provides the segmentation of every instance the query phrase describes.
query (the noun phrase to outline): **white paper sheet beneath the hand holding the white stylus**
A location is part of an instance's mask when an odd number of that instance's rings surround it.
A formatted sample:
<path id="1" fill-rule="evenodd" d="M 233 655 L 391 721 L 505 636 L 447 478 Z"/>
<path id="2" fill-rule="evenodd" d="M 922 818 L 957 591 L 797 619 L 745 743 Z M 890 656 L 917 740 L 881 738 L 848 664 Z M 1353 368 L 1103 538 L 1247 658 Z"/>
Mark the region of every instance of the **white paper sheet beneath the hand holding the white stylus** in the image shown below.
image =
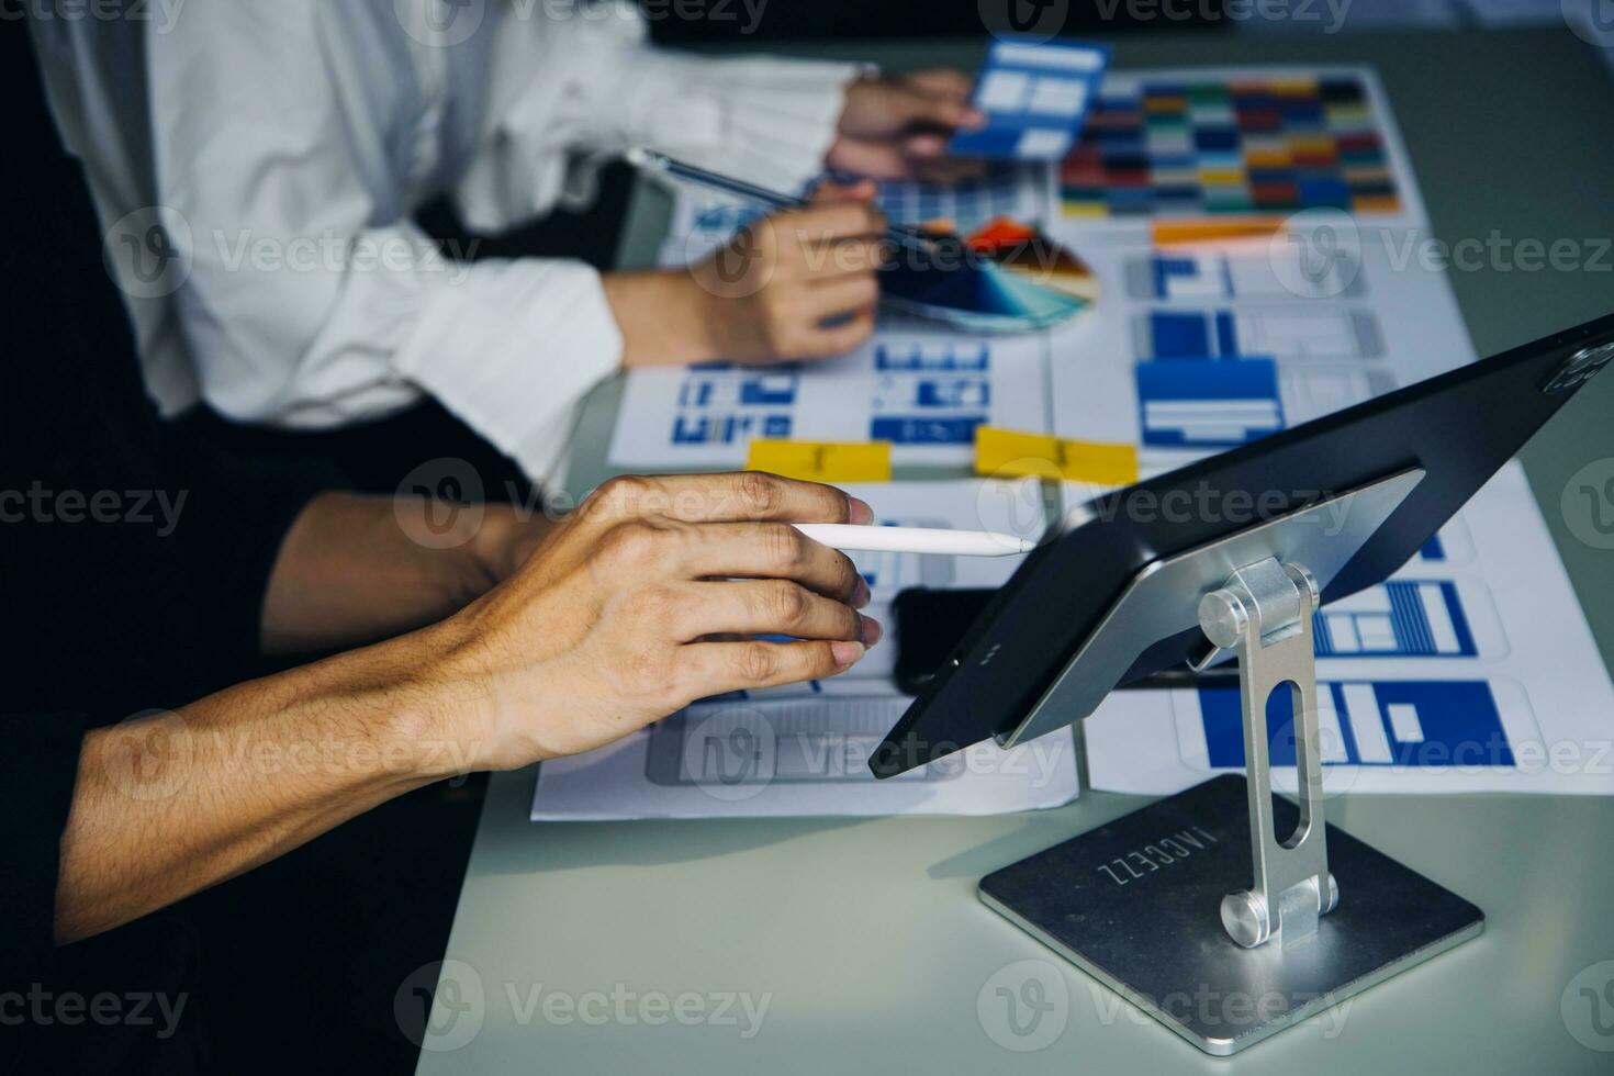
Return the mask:
<path id="1" fill-rule="evenodd" d="M 986 529 L 1038 537 L 1036 481 L 854 484 L 878 524 Z M 1023 557 L 851 553 L 870 581 L 868 615 L 889 629 L 899 590 L 996 587 Z M 544 763 L 533 820 L 776 815 L 989 815 L 1077 797 L 1068 732 L 1002 752 L 978 744 L 930 766 L 875 781 L 868 757 L 909 700 L 891 684 L 891 645 L 844 676 L 709 700 L 578 758 Z"/>

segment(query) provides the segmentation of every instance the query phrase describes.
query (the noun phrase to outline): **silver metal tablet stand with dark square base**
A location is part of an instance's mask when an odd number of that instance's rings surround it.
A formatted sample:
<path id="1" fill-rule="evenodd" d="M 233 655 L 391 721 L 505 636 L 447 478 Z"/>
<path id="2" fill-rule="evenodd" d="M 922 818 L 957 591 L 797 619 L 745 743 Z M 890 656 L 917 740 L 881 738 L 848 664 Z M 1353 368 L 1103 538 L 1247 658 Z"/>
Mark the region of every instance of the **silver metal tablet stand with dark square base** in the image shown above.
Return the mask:
<path id="1" fill-rule="evenodd" d="M 1390 476 L 1138 576 L 999 737 L 1086 716 L 1146 645 L 1193 626 L 1209 640 L 1198 668 L 1236 653 L 1248 778 L 1214 778 L 981 879 L 983 902 L 1207 1053 L 1235 1053 L 1485 928 L 1475 905 L 1323 818 L 1312 615 L 1422 478 Z M 1288 702 L 1298 805 L 1272 794 L 1272 700 Z"/>

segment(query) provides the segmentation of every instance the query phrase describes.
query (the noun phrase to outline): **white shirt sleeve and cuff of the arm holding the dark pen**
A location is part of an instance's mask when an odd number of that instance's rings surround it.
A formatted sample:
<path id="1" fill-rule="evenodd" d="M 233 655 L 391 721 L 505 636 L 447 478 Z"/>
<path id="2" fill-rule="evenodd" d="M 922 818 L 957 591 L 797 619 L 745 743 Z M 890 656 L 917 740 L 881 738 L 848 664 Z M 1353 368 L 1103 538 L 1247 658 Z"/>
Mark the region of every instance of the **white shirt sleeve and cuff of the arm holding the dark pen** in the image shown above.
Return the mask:
<path id="1" fill-rule="evenodd" d="M 399 90 L 387 65 L 407 71 L 410 56 L 366 31 L 381 18 L 370 6 L 199 5 L 148 39 L 158 186 L 187 265 L 176 298 L 202 395 L 237 421 L 329 427 L 424 389 L 544 476 L 573 405 L 620 361 L 599 274 L 455 263 L 413 224 L 423 127 L 397 129 L 395 102 L 378 100 Z"/>

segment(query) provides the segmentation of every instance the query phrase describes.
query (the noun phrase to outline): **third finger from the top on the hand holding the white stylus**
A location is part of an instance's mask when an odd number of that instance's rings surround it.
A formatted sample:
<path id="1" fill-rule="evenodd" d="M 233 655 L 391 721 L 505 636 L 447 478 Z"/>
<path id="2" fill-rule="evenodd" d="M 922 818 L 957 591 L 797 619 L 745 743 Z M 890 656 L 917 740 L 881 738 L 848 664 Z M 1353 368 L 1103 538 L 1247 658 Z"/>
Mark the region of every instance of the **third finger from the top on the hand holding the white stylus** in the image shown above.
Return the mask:
<path id="1" fill-rule="evenodd" d="M 851 605 L 813 594 L 789 579 L 691 582 L 679 587 L 678 595 L 673 631 L 679 642 L 736 632 L 846 639 L 865 645 L 880 639 L 880 626 Z"/>

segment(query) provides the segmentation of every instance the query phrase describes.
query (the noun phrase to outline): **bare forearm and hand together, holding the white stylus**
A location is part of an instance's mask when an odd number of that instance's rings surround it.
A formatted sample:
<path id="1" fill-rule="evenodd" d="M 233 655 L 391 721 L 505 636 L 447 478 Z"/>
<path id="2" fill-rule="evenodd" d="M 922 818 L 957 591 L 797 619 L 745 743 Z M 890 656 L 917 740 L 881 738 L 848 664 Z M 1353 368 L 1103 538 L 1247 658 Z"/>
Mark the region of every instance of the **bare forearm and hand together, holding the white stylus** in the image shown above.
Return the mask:
<path id="1" fill-rule="evenodd" d="M 431 781 L 584 752 L 704 695 L 844 671 L 880 639 L 855 611 L 868 587 L 788 524 L 872 515 L 771 474 L 617 479 L 442 624 L 94 729 L 61 836 L 58 940 Z"/>

